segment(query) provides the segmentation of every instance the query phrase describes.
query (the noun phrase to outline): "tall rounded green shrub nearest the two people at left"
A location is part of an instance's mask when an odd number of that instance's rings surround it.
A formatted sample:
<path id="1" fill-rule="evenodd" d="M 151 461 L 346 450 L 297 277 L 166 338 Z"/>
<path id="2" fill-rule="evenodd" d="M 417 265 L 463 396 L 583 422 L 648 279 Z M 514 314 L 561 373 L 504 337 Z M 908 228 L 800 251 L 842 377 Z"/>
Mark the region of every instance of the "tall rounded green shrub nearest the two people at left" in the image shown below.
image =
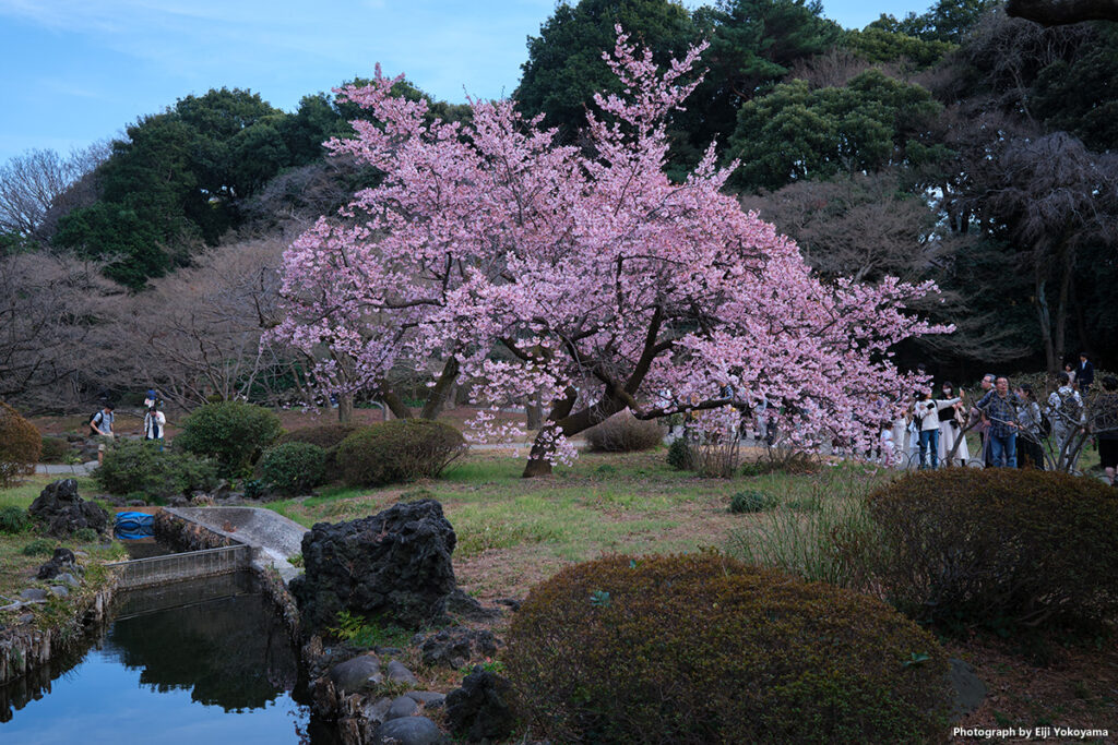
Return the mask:
<path id="1" fill-rule="evenodd" d="M 224 477 L 245 476 L 282 429 L 272 411 L 244 401 L 207 403 L 182 421 L 174 447 L 212 458 Z"/>

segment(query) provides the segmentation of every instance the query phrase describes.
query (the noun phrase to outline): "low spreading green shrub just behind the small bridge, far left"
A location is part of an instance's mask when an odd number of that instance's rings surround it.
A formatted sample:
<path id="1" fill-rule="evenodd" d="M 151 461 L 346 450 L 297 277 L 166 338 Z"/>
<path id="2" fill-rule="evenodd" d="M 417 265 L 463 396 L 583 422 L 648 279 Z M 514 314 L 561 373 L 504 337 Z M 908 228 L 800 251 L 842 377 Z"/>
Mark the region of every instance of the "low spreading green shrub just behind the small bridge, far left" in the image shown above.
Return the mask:
<path id="1" fill-rule="evenodd" d="M 217 466 L 189 452 L 160 452 L 153 441 L 117 440 L 93 477 L 110 494 L 142 493 L 145 502 L 152 502 L 212 489 Z"/>

